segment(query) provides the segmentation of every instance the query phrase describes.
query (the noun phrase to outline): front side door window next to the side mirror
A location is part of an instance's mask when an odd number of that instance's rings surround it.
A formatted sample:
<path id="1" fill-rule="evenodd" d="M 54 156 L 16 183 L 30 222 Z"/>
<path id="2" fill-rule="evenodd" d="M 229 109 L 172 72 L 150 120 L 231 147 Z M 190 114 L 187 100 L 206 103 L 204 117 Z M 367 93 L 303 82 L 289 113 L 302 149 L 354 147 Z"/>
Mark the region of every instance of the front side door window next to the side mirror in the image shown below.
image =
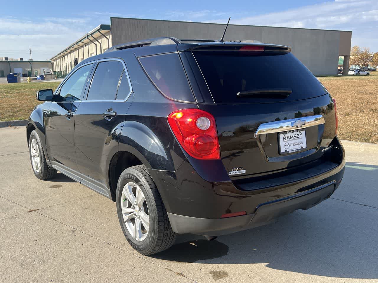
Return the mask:
<path id="1" fill-rule="evenodd" d="M 80 100 L 82 92 L 87 84 L 87 79 L 92 69 L 92 64 L 77 69 L 60 88 L 58 100 Z"/>

